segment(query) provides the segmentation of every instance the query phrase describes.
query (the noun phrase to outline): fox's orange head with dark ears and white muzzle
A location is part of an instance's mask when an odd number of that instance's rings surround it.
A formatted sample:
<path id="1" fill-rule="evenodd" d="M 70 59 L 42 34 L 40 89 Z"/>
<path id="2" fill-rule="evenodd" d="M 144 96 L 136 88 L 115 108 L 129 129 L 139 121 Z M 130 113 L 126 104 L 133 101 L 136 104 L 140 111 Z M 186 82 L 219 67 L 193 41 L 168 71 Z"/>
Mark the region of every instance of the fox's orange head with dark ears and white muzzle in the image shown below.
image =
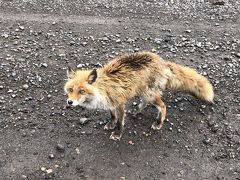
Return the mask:
<path id="1" fill-rule="evenodd" d="M 97 70 L 73 70 L 68 68 L 68 80 L 64 90 L 68 95 L 67 104 L 71 106 L 87 106 L 91 104 L 96 94 L 94 83 Z"/>

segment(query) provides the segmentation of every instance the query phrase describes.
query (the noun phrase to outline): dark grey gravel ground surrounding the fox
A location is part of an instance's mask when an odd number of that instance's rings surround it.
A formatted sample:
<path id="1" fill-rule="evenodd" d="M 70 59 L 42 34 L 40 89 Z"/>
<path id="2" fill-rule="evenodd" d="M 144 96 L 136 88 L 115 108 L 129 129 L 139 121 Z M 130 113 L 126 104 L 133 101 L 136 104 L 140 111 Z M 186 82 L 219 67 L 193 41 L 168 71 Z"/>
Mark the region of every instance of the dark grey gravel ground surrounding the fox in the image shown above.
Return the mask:
<path id="1" fill-rule="evenodd" d="M 240 179 L 240 3 L 0 0 L 0 179 Z M 196 68 L 215 104 L 166 93 L 131 112 L 120 142 L 108 112 L 67 108 L 66 67 L 151 50 Z"/>

